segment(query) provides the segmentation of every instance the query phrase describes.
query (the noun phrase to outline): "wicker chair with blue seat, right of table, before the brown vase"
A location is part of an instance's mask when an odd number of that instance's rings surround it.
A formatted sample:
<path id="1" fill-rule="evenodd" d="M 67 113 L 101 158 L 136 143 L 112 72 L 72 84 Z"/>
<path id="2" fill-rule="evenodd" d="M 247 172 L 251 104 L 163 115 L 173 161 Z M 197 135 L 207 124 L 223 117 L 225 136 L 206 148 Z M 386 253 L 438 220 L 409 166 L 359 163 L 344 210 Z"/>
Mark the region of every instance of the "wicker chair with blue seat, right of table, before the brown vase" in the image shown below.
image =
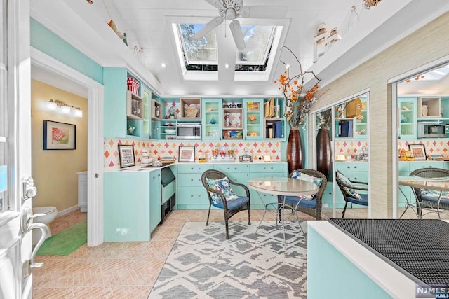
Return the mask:
<path id="1" fill-rule="evenodd" d="M 321 220 L 321 198 L 323 197 L 324 190 L 326 190 L 328 180 L 326 179 L 326 176 L 318 170 L 297 169 L 297 171 L 302 172 L 303 174 L 308 174 L 309 176 L 321 178 L 323 179 L 323 182 L 321 182 L 321 186 L 318 189 L 318 192 L 314 196 L 313 200 L 300 200 L 300 198 L 297 196 L 286 196 L 286 204 L 289 204 L 294 209 L 296 208 L 297 211 L 302 211 L 305 214 L 315 217 L 316 220 Z M 289 177 L 291 177 L 292 174 L 293 172 L 290 173 Z M 281 195 L 278 195 L 278 202 L 283 202 L 283 197 Z"/>

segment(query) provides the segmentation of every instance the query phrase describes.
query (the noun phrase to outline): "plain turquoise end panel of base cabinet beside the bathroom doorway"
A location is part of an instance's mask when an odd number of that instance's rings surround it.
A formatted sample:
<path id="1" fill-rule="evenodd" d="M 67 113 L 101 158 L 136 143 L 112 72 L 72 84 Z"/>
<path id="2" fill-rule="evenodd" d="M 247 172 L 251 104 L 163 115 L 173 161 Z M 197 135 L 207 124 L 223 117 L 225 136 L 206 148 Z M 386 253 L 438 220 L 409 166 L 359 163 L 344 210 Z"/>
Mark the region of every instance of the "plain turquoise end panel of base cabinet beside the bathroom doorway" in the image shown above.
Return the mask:
<path id="1" fill-rule="evenodd" d="M 149 241 L 149 176 L 150 172 L 105 172 L 105 242 Z"/>

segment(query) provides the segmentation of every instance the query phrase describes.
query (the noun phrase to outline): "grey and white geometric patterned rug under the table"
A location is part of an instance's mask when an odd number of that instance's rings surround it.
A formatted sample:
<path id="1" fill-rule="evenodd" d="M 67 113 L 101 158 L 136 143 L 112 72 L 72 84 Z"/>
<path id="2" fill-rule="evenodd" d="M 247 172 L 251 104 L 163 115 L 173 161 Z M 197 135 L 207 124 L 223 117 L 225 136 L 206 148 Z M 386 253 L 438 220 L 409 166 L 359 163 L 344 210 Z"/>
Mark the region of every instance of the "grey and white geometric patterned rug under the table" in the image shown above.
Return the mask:
<path id="1" fill-rule="evenodd" d="M 306 298 L 307 234 L 286 221 L 187 222 L 148 298 Z M 302 223 L 303 228 L 306 223 Z"/>

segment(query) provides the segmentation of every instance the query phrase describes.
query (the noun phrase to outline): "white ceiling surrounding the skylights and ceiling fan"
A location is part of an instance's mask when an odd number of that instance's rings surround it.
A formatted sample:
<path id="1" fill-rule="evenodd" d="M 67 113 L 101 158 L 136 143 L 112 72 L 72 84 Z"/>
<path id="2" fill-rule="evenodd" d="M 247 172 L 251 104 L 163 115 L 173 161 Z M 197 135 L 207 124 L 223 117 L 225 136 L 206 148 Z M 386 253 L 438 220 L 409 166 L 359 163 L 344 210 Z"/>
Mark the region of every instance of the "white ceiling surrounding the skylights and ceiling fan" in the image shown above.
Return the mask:
<path id="1" fill-rule="evenodd" d="M 205 0 L 39 0 L 31 1 L 31 15 L 102 67 L 126 67 L 142 78 L 153 90 L 163 96 L 223 96 L 242 97 L 281 95 L 274 78 L 281 74 L 283 64 L 291 56 L 274 62 L 274 71 L 262 81 L 236 82 L 185 81 L 177 62 L 175 39 L 169 20 L 210 20 L 217 9 Z M 351 68 L 373 57 L 407 34 L 427 24 L 449 10 L 447 0 L 395 0 L 380 2 L 371 8 L 349 32 L 347 16 L 352 5 L 361 11 L 362 0 L 244 0 L 244 5 L 288 6 L 284 20 L 290 22 L 283 45 L 288 46 L 302 62 L 303 69 L 312 69 L 323 79 L 322 85 L 341 76 Z M 107 26 L 113 19 L 121 32 L 128 36 L 126 46 Z M 327 29 L 338 27 L 342 40 L 319 61 L 312 64 L 316 27 L 325 22 Z M 218 31 L 225 32 L 222 28 Z M 227 50 L 234 42 L 229 37 Z M 137 46 L 143 51 L 133 54 Z M 219 49 L 220 50 L 220 49 Z M 285 51 L 283 51 L 285 53 Z M 163 69 L 161 63 L 167 67 Z M 229 79 L 229 78 L 228 78 Z"/>

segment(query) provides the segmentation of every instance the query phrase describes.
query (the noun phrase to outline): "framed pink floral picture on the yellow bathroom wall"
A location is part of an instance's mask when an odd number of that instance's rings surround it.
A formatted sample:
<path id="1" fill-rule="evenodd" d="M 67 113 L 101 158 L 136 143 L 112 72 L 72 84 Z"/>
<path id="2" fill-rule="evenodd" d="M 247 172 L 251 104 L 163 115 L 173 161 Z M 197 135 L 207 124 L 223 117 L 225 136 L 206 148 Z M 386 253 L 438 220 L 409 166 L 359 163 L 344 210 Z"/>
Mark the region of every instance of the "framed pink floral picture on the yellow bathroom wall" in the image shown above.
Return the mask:
<path id="1" fill-rule="evenodd" d="M 43 149 L 76 149 L 76 125 L 43 120 Z"/>

